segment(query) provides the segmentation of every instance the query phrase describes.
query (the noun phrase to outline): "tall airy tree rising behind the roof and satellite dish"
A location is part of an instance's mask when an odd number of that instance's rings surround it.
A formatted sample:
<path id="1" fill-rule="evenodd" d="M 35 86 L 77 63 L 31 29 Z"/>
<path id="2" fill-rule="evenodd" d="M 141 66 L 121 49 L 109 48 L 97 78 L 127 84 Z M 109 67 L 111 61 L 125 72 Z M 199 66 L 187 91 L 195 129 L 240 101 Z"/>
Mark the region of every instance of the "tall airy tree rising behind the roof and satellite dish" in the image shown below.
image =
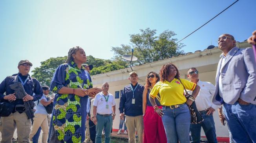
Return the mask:
<path id="1" fill-rule="evenodd" d="M 176 35 L 173 31 L 165 30 L 164 32 L 159 34 L 159 36 L 155 36 L 157 31 L 155 29 L 150 30 L 149 28 L 147 28 L 145 30 L 140 29 L 140 31 L 140 34 L 130 35 L 130 45 L 112 47 L 112 51 L 114 52 L 113 59 L 121 60 L 122 55 L 132 54 L 132 48 L 134 49 L 133 55 L 138 58 L 136 62 L 133 62 L 135 65 L 159 61 L 168 57 L 173 57 L 184 53 L 181 48 L 185 45 L 183 45 L 182 43 L 169 48 L 177 41 L 176 38 L 173 38 Z M 163 50 L 165 50 L 166 48 L 169 49 L 163 52 Z M 163 53 L 160 54 L 161 52 Z"/>

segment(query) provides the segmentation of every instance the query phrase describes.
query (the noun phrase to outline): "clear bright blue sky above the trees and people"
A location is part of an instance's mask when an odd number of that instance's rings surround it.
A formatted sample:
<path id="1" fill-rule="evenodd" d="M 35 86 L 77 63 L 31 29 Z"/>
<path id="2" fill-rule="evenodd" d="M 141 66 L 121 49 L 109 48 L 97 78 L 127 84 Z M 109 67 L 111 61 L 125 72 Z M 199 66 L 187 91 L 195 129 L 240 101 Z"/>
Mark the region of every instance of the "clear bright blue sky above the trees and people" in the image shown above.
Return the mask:
<path id="1" fill-rule="evenodd" d="M 87 55 L 111 59 L 112 46 L 129 44 L 139 29 L 176 32 L 182 39 L 235 0 L 1 0 L 0 80 L 17 73 L 21 59 L 33 66 L 81 46 Z M 256 0 L 240 0 L 183 40 L 185 52 L 217 46 L 223 33 L 237 41 L 256 30 Z"/>

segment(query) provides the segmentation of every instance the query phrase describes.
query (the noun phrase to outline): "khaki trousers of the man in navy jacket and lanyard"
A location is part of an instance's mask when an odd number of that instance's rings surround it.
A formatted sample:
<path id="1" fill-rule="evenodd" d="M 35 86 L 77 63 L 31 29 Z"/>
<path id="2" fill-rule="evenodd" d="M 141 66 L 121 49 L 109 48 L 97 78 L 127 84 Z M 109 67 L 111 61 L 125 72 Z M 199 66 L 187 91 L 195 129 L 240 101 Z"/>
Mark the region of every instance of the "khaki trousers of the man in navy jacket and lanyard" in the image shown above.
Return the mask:
<path id="1" fill-rule="evenodd" d="M 143 143 L 143 116 L 127 116 L 125 119 L 125 124 L 128 129 L 129 143 L 135 143 L 135 131 L 138 134 L 138 143 Z"/>

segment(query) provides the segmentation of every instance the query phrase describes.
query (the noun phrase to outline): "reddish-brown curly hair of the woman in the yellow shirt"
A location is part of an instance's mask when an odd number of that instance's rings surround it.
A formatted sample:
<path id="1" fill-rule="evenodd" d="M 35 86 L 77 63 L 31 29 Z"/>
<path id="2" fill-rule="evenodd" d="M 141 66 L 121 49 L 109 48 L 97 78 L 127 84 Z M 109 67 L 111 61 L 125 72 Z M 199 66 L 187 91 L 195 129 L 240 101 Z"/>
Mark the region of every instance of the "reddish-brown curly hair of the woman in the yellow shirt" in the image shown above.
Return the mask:
<path id="1" fill-rule="evenodd" d="M 179 79 L 180 75 L 179 75 L 179 70 L 178 70 L 177 66 L 175 66 L 172 63 L 168 63 L 168 64 L 164 64 L 159 72 L 161 82 L 167 80 L 168 76 L 170 75 L 170 66 L 174 66 L 174 68 L 177 71 L 174 78 Z"/>

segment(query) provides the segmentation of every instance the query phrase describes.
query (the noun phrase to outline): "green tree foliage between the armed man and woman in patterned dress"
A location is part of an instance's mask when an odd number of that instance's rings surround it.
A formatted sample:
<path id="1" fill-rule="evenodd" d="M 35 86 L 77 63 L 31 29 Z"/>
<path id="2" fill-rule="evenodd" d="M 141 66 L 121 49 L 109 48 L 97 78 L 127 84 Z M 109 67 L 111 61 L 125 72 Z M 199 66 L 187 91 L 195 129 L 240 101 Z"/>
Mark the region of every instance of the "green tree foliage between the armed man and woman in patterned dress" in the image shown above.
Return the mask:
<path id="1" fill-rule="evenodd" d="M 65 63 L 67 56 L 65 57 L 51 57 L 46 61 L 41 62 L 41 66 L 35 68 L 35 70 L 31 71 L 33 73 L 32 77 L 36 78 L 40 84 L 50 86 L 51 79 L 56 68 Z"/>

